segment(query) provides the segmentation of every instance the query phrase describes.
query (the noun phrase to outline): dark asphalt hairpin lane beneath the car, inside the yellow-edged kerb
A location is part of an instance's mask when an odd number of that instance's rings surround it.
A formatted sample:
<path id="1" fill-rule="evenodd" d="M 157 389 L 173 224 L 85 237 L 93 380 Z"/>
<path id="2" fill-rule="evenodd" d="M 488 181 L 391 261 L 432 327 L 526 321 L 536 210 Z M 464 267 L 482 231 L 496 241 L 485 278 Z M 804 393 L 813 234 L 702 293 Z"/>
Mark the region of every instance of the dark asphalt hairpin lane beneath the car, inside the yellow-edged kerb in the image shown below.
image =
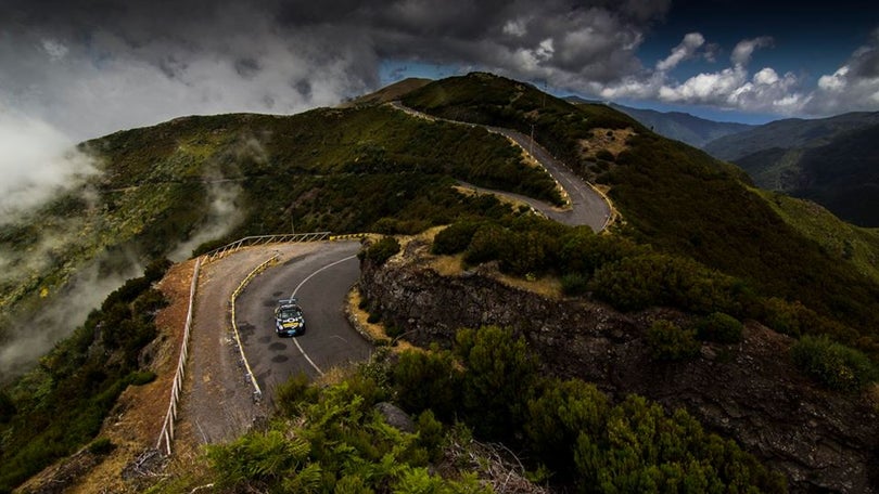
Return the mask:
<path id="1" fill-rule="evenodd" d="M 344 314 L 345 297 L 360 275 L 358 242 L 322 244 L 314 251 L 282 260 L 256 276 L 235 303 L 241 344 L 263 390 L 303 373 L 316 378 L 329 368 L 369 358 L 371 346 Z M 279 299 L 296 297 L 305 313 L 305 334 L 282 338 L 275 333 Z"/>

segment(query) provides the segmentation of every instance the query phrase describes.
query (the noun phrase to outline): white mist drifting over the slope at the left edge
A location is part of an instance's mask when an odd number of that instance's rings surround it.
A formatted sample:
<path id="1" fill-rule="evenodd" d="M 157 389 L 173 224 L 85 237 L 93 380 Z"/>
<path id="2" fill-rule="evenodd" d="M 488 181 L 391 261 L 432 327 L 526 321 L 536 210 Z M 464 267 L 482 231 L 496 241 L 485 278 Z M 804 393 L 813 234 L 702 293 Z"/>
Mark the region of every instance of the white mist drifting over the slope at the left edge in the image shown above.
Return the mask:
<path id="1" fill-rule="evenodd" d="M 142 226 L 131 227 L 125 219 L 139 210 L 139 203 L 120 207 L 120 200 L 130 199 L 120 199 L 118 192 L 101 193 L 102 179 L 93 158 L 65 146 L 63 135 L 47 127 L 30 130 L 36 132 L 20 132 L 21 142 L 33 145 L 44 139 L 47 147 L 42 154 L 20 152 L 18 156 L 33 159 L 34 172 L 22 174 L 14 186 L 3 185 L 26 200 L 14 202 L 7 196 L 2 203 L 0 384 L 29 369 L 55 342 L 80 326 L 110 292 L 126 280 L 140 276 L 151 260 L 146 257 L 164 251 L 165 257 L 179 262 L 201 244 L 228 235 L 244 218 L 239 199 L 246 167 L 267 159 L 259 139 L 239 135 L 201 162 L 204 195 L 194 204 L 163 203 L 162 195 L 145 190 L 143 195 L 123 193 L 137 200 L 164 204 L 165 209 L 149 209 L 149 216 L 139 219 L 142 221 L 137 223 Z M 10 162 L 14 158 L 11 153 L 3 159 Z M 176 159 L 176 155 L 168 159 Z M 63 206 L 66 204 L 78 206 L 67 208 Z M 180 208 L 199 211 L 198 219 L 188 226 L 163 223 L 161 218 L 174 218 Z M 175 227 L 180 231 L 168 230 L 168 224 L 178 224 Z M 153 247 L 158 245 L 161 251 L 146 256 L 148 250 L 138 243 L 140 235 L 145 235 Z"/>

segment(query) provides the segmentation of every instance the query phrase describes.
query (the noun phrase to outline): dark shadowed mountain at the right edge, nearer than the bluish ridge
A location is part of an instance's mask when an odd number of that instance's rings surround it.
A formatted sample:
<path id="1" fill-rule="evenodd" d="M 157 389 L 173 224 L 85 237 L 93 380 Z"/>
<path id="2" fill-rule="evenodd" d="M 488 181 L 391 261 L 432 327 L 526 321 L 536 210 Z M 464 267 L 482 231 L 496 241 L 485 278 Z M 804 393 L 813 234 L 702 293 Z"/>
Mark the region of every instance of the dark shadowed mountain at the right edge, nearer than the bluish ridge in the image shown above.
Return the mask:
<path id="1" fill-rule="evenodd" d="M 708 143 L 762 188 L 807 198 L 845 221 L 879 226 L 879 113 L 773 121 Z"/>

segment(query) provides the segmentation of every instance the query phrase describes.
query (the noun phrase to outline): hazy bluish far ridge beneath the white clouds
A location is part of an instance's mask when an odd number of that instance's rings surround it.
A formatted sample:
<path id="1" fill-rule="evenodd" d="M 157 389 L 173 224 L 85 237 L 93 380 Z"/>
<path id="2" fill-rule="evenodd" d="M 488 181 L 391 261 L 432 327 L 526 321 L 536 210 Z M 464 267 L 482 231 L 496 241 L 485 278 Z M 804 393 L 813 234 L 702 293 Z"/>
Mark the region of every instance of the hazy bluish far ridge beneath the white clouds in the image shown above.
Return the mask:
<path id="1" fill-rule="evenodd" d="M 574 104 L 603 103 L 579 96 L 568 96 L 565 100 Z M 638 120 L 642 126 L 660 135 L 685 142 L 695 147 L 702 147 L 716 139 L 754 128 L 754 126 L 748 123 L 708 120 L 681 112 L 657 112 L 654 109 L 633 108 L 616 103 L 603 104 Z"/>

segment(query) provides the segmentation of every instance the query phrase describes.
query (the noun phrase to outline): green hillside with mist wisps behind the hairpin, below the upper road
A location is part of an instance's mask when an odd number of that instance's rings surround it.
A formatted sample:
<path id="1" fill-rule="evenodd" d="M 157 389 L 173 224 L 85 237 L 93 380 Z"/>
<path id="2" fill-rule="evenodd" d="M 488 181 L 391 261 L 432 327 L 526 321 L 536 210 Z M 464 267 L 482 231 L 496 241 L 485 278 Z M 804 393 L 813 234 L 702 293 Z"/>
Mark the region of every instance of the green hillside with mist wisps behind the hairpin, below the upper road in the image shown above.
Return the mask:
<path id="1" fill-rule="evenodd" d="M 179 118 L 82 150 L 99 176 L 0 226 L 0 342 L 51 328 L 51 346 L 132 266 L 200 245 L 291 230 L 413 232 L 504 209 L 458 194 L 457 180 L 560 202 L 505 138 L 381 106 Z M 77 281 L 93 300 L 72 291 Z M 35 329 L 34 314 L 54 317 Z M 27 363 L 0 362 L 4 377 Z"/>

